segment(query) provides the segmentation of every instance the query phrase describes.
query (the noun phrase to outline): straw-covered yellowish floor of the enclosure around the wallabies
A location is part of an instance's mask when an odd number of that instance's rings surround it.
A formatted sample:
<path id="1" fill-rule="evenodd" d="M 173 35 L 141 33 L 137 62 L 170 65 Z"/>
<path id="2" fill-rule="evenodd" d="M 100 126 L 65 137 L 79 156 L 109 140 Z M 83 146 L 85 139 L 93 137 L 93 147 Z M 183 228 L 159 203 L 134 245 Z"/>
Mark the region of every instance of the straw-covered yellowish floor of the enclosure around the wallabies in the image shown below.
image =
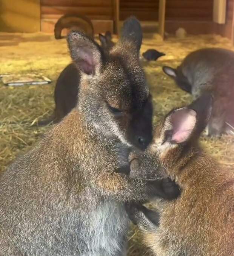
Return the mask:
<path id="1" fill-rule="evenodd" d="M 191 101 L 191 96 L 180 90 L 162 72 L 162 66 L 176 67 L 191 51 L 203 47 L 223 47 L 234 50 L 228 39 L 220 36 L 188 36 L 185 39 L 169 37 L 164 42 L 157 36 L 145 39 L 141 52 L 155 48 L 166 53 L 156 62 L 142 61 L 151 87 L 155 105 L 154 118 L 171 108 Z M 40 72 L 52 80 L 42 86 L 6 87 L 0 84 L 0 172 L 19 154 L 35 145 L 49 129 L 31 124 L 52 114 L 55 81 L 71 61 L 65 39 L 55 40 L 48 34 L 0 33 L 0 74 Z M 223 166 L 234 167 L 234 137 L 221 139 L 202 137 L 201 142 Z M 137 229 L 130 233 L 129 255 L 149 255 L 139 242 Z"/>

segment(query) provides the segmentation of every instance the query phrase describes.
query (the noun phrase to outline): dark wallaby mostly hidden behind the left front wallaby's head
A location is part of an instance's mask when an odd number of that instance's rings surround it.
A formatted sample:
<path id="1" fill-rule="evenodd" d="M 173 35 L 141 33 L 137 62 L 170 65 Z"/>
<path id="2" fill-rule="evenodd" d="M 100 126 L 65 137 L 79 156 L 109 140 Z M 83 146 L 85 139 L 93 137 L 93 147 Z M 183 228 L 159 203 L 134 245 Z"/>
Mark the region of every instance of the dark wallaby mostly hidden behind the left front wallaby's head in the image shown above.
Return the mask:
<path id="1" fill-rule="evenodd" d="M 114 46 L 112 36 L 109 31 L 105 35 L 99 34 L 101 47 L 104 51 L 109 52 Z M 58 76 L 54 89 L 55 109 L 54 113 L 46 120 L 40 120 L 38 125 L 48 125 L 49 123 L 60 122 L 73 108 L 78 100 L 80 86 L 80 72 L 74 63 L 69 64 L 63 69 Z"/>

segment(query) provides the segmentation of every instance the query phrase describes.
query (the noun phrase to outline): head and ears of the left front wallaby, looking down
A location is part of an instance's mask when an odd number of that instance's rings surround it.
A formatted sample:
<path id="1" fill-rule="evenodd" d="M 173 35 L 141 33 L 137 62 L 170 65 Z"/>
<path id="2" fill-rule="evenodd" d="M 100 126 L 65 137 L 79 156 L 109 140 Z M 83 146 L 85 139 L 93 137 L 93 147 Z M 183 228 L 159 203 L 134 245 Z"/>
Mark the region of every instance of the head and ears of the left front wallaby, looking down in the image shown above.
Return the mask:
<path id="1" fill-rule="evenodd" d="M 139 64 L 140 23 L 133 18 L 129 22 L 137 24 L 137 32 L 126 20 L 122 34 L 128 36 L 121 37 L 109 53 L 79 32 L 69 34 L 68 46 L 81 71 L 78 108 L 86 121 L 109 138 L 145 149 L 152 139 L 152 105 Z"/>

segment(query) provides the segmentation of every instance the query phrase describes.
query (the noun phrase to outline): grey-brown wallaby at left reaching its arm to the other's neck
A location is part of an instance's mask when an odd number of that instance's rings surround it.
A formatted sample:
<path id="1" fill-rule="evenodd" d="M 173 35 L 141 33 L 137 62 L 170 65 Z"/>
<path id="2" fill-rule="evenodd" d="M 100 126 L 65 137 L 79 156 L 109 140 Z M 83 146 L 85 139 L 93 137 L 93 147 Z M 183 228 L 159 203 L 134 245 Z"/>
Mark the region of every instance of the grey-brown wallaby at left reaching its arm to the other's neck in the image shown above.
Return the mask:
<path id="1" fill-rule="evenodd" d="M 134 17 L 125 22 L 132 20 L 140 29 Z M 81 75 L 79 103 L 1 175 L 0 255 L 122 255 L 123 203 L 177 196 L 176 187 L 167 191 L 170 182 L 119 173 L 122 148 L 143 149 L 152 136 L 151 111 L 140 130 L 132 126 L 151 105 L 135 37 L 126 28 L 109 55 L 84 34 L 69 34 Z"/>

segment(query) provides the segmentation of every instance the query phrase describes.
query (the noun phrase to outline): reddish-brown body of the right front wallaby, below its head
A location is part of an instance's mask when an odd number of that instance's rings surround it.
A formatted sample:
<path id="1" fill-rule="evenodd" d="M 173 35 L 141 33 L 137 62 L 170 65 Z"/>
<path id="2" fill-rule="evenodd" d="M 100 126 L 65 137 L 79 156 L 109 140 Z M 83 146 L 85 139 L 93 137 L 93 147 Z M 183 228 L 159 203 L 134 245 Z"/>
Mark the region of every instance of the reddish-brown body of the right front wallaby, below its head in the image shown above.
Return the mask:
<path id="1" fill-rule="evenodd" d="M 172 202 L 157 202 L 160 225 L 145 236 L 147 244 L 162 256 L 233 255 L 234 179 L 205 155 L 188 165 L 193 167 L 168 173 L 182 193 Z"/>

